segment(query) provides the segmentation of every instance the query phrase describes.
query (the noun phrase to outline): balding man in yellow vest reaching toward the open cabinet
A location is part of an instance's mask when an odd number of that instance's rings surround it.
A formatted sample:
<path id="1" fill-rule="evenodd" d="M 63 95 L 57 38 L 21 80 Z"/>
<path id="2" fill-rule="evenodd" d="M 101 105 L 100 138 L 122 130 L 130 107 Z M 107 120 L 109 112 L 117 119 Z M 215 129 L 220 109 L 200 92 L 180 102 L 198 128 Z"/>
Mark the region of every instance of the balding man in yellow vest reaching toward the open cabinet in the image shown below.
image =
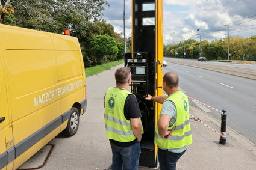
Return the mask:
<path id="1" fill-rule="evenodd" d="M 178 159 L 192 144 L 189 121 L 189 100 L 179 90 L 179 77 L 176 73 L 168 72 L 163 77 L 163 90 L 168 96 L 152 97 L 148 94 L 145 99 L 163 103 L 155 129 L 155 144 L 158 146 L 160 169 L 176 169 Z"/>

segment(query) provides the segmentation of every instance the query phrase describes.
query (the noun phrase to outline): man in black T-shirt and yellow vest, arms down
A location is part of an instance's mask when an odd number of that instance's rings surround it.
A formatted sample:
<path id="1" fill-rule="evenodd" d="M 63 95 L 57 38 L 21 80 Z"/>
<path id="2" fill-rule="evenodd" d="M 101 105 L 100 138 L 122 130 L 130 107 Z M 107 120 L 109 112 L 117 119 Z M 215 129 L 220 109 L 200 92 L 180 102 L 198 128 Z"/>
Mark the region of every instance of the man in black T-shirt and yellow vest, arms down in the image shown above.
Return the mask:
<path id="1" fill-rule="evenodd" d="M 131 83 L 130 67 L 122 67 L 114 74 L 116 87 L 105 94 L 105 129 L 112 149 L 112 170 L 139 168 L 142 114 L 134 94 L 128 91 Z"/>

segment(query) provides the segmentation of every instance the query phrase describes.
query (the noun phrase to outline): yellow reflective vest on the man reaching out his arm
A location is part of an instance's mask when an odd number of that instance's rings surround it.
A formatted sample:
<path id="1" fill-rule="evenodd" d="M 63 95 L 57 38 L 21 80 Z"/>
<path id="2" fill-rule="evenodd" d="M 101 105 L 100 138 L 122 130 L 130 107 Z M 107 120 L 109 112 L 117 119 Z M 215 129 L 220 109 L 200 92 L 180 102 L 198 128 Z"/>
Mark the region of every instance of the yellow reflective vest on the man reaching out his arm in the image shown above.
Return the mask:
<path id="1" fill-rule="evenodd" d="M 192 144 L 192 133 L 189 120 L 189 100 L 187 99 L 186 94 L 177 91 L 167 97 L 166 100 L 172 100 L 172 102 L 175 103 L 177 119 L 175 123 L 168 128 L 168 130 L 173 130 L 173 132 L 167 139 L 161 138 L 158 133 L 158 128 L 155 129 L 155 144 L 166 149 L 181 148 Z"/>

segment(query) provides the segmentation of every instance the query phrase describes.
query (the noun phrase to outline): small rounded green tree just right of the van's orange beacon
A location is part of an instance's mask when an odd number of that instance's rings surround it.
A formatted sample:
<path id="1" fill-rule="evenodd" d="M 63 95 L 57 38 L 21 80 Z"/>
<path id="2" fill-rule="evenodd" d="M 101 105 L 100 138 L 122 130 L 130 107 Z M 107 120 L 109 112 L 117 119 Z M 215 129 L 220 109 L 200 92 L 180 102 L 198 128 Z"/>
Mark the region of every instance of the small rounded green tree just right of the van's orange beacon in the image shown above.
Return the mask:
<path id="1" fill-rule="evenodd" d="M 97 61 L 101 64 L 107 61 L 113 61 L 118 53 L 116 41 L 109 35 L 97 35 L 90 42 L 90 46 Z"/>

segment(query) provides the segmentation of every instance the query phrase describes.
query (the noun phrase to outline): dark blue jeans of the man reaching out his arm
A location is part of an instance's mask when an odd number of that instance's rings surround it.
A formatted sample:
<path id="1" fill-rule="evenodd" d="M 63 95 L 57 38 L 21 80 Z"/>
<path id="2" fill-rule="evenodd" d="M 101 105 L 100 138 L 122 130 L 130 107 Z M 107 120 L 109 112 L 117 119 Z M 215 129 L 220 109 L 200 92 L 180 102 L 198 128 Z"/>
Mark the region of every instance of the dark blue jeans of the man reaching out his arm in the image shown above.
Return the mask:
<path id="1" fill-rule="evenodd" d="M 180 157 L 185 153 L 172 153 L 168 150 L 161 150 L 158 148 L 158 160 L 161 170 L 176 170 L 176 164 Z"/>

